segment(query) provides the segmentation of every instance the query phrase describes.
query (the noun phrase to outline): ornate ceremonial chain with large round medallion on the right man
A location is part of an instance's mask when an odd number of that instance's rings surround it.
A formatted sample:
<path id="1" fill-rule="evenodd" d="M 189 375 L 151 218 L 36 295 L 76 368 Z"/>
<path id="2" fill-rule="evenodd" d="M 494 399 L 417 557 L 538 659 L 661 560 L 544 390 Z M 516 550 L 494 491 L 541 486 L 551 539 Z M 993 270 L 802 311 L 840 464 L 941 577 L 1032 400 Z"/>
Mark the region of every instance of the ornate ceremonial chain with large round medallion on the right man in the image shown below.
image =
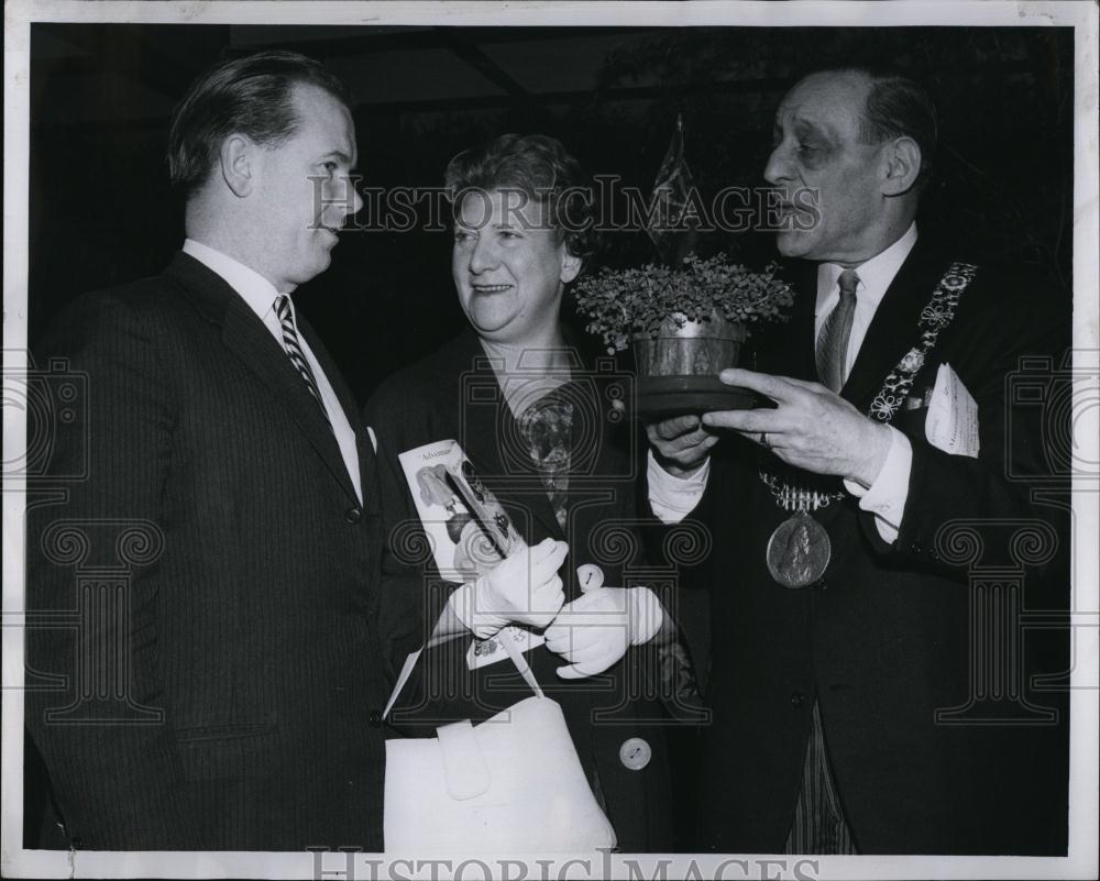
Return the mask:
<path id="1" fill-rule="evenodd" d="M 974 280 L 978 267 L 971 263 L 953 263 L 939 279 L 932 299 L 921 310 L 917 345 L 910 349 L 887 376 L 882 389 L 868 409 L 868 418 L 889 423 L 901 407 L 925 357 L 936 344 L 939 332 L 955 319 L 959 297 Z M 771 491 L 776 504 L 794 514 L 776 527 L 766 551 L 768 571 L 784 587 L 809 587 L 822 580 L 832 557 L 828 532 L 810 511 L 827 507 L 844 498 L 844 493 L 827 493 L 792 486 L 765 469 L 760 481 Z"/>

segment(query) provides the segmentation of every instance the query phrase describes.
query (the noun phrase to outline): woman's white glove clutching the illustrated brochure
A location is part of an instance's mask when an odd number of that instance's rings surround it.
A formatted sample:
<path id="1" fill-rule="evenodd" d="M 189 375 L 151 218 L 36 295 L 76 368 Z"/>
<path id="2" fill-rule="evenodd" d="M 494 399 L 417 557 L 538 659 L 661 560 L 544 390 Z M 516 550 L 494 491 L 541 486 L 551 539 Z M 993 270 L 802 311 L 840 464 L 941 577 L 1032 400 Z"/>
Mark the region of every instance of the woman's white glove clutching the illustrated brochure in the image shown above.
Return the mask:
<path id="1" fill-rule="evenodd" d="M 509 624 L 546 627 L 565 602 L 558 570 L 566 553 L 569 544 L 564 541 L 543 539 L 472 584 L 463 584 L 448 603 L 479 639 L 487 639 Z"/>

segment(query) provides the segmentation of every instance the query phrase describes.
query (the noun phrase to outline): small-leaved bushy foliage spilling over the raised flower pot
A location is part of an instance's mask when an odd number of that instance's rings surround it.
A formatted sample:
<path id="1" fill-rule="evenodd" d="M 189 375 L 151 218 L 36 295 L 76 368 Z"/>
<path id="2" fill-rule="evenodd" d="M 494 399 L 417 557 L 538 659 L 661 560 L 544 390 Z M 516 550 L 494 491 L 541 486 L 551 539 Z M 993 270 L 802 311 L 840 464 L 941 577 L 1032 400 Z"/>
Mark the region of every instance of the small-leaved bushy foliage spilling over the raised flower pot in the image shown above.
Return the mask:
<path id="1" fill-rule="evenodd" d="M 679 327 L 717 315 L 749 326 L 785 321 L 794 295 L 776 278 L 778 266 L 752 272 L 732 263 L 725 254 L 707 260 L 692 254 L 678 267 L 647 263 L 630 269 L 604 268 L 576 283 L 576 309 L 592 320 L 590 333 L 600 334 L 610 353 L 632 339 L 658 335 L 667 319 Z"/>

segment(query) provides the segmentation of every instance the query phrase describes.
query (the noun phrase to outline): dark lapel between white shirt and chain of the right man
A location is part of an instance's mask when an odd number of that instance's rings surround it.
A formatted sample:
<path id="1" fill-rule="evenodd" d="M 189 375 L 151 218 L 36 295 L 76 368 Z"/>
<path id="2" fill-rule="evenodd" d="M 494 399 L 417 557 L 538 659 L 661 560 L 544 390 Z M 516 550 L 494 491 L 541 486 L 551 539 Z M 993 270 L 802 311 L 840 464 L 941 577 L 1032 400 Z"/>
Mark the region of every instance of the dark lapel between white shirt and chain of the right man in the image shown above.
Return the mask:
<path id="1" fill-rule="evenodd" d="M 875 312 L 840 394 L 866 411 L 902 356 L 921 342 L 917 320 L 939 280 L 939 265 L 919 241 Z"/>

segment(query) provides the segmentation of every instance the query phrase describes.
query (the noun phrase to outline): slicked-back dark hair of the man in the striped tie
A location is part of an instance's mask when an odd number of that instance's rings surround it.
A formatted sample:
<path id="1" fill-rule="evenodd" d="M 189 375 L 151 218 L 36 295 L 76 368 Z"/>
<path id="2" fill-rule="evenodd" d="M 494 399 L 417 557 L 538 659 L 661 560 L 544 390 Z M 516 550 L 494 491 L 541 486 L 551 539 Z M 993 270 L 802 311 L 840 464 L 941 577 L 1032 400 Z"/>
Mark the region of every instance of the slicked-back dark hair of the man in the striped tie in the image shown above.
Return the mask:
<path id="1" fill-rule="evenodd" d="M 168 173 L 186 194 L 206 183 L 221 144 L 231 134 L 278 146 L 298 128 L 296 85 L 316 86 L 343 104 L 348 90 L 319 62 L 296 52 L 261 52 L 234 58 L 199 77 L 176 106 L 168 134 Z"/>

